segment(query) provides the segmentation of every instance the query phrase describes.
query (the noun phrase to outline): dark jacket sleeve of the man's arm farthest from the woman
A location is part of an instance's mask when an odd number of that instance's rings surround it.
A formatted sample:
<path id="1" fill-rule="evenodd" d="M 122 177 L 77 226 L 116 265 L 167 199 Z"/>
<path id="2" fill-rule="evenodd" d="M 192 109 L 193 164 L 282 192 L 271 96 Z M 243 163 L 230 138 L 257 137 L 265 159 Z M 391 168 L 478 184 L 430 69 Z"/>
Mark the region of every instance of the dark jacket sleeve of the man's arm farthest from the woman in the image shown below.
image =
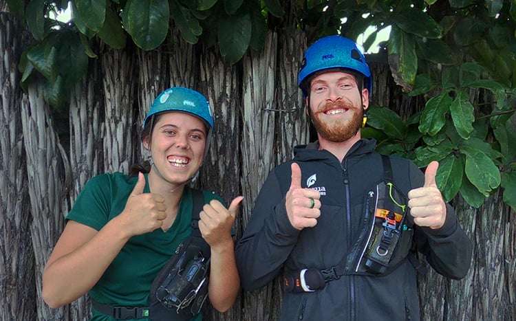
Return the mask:
<path id="1" fill-rule="evenodd" d="M 413 168 L 417 166 L 412 166 L 412 172 Z M 420 170 L 418 172 L 421 173 Z M 419 186 L 422 186 L 422 183 L 416 185 Z M 473 246 L 462 230 L 455 211 L 448 203 L 446 221 L 442 228 L 433 230 L 415 225 L 414 232 L 418 252 L 426 256 L 427 262 L 436 272 L 456 280 L 466 276 L 471 265 Z"/>

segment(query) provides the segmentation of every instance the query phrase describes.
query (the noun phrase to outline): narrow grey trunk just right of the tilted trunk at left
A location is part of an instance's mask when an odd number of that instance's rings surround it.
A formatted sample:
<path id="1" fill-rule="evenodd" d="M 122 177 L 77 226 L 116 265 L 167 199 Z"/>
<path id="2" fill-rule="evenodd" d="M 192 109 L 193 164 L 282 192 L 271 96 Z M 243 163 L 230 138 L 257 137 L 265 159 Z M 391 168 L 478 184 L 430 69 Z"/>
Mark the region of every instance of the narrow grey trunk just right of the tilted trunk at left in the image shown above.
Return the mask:
<path id="1" fill-rule="evenodd" d="M 100 115 L 103 99 L 99 94 L 102 92 L 102 80 L 98 65 L 98 60 L 89 63 L 87 76 L 72 89 L 71 94 L 69 153 L 72 187 L 69 190 L 69 203 L 72 206 L 86 182 L 103 172 L 103 120 Z M 87 294 L 72 302 L 69 307 L 70 320 L 89 320 L 90 306 Z"/>

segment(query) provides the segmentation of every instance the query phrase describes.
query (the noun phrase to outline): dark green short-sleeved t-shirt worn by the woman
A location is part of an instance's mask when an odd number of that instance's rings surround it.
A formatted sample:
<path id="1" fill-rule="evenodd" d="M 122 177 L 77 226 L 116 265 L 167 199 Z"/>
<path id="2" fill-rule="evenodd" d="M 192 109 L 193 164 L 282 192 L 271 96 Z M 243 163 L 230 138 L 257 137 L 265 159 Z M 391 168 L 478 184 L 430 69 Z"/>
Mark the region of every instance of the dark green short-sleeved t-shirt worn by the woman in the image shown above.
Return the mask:
<path id="1" fill-rule="evenodd" d="M 147 175 L 145 175 L 147 180 Z M 100 230 L 125 208 L 138 177 L 122 173 L 106 173 L 90 179 L 78 195 L 67 220 Z M 146 184 L 144 192 L 149 191 Z M 222 199 L 203 190 L 206 203 Z M 155 276 L 169 260 L 180 243 L 191 235 L 192 195 L 184 188 L 178 215 L 171 228 L 131 237 L 109 265 L 98 283 L 89 291 L 96 302 L 122 307 L 145 307 Z M 111 317 L 92 309 L 94 321 L 112 321 Z M 193 320 L 201 320 L 201 313 Z M 140 321 L 145 319 L 138 319 Z"/>

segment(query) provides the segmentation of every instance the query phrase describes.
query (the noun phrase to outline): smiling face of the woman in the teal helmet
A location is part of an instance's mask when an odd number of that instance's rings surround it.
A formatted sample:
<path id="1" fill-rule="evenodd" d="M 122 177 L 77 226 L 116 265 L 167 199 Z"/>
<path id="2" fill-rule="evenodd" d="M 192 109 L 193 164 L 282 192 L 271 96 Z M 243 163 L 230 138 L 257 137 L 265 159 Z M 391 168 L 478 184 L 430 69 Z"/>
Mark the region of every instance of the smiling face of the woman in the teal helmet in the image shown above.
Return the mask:
<path id="1" fill-rule="evenodd" d="M 200 118 L 180 111 L 162 113 L 155 119 L 151 141 L 143 141 L 152 154 L 151 171 L 173 185 L 188 181 L 202 164 L 206 135 Z"/>

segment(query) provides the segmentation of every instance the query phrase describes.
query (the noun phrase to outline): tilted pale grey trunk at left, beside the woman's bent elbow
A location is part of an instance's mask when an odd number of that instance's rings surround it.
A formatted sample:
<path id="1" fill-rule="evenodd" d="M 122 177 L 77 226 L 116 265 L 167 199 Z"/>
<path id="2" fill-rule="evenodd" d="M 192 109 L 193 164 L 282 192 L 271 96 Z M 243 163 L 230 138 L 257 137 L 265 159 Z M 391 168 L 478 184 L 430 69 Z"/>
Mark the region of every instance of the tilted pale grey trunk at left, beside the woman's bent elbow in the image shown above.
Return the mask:
<path id="1" fill-rule="evenodd" d="M 43 269 L 63 230 L 63 213 L 68 212 L 64 175 L 68 173 L 68 160 L 54 130 L 50 108 L 43 100 L 42 88 L 29 85 L 28 96 L 23 96 L 21 103 L 21 121 L 27 153 L 34 274 L 37 297 L 41 298 Z M 36 307 L 39 320 L 64 320 L 64 309 L 50 309 L 42 300 L 36 300 Z"/>

